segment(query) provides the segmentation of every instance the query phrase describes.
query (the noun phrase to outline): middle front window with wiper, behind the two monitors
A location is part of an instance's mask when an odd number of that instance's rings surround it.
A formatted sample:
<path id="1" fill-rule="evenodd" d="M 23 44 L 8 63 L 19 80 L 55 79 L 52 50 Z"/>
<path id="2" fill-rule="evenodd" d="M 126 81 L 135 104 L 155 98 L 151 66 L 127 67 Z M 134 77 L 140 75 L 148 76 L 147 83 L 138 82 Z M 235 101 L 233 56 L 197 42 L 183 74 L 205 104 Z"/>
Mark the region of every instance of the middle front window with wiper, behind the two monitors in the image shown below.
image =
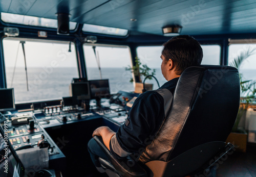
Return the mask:
<path id="1" fill-rule="evenodd" d="M 86 58 L 88 80 L 101 79 L 98 66 L 101 67 L 102 79 L 109 79 L 111 93 L 119 90 L 134 91 L 130 82 L 132 73 L 125 67 L 131 66 L 130 48 L 127 46 L 96 46 L 94 53 L 92 45 L 83 45 Z M 98 65 L 99 63 L 99 65 Z"/>

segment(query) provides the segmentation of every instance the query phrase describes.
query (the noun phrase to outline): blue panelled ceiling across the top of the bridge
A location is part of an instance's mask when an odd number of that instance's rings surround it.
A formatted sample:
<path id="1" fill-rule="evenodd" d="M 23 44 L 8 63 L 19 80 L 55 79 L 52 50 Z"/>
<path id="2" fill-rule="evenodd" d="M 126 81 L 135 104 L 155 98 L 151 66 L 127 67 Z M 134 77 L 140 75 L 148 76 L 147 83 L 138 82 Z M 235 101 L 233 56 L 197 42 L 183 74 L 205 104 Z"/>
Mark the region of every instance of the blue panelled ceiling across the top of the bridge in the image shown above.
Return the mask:
<path id="1" fill-rule="evenodd" d="M 256 32 L 255 0 L 0 0 L 0 11 L 55 19 L 65 12 L 71 21 L 157 35 L 167 24 L 191 35 Z"/>

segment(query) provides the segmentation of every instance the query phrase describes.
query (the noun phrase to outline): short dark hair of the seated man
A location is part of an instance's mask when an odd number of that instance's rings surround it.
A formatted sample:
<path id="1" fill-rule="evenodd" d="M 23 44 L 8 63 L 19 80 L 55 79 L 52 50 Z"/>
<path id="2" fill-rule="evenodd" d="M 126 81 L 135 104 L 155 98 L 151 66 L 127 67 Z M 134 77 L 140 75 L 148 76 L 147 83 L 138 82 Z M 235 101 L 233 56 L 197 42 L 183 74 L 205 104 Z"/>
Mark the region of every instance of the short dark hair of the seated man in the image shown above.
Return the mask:
<path id="1" fill-rule="evenodd" d="M 163 44 L 162 55 L 165 60 L 172 59 L 176 74 L 180 75 L 190 66 L 199 66 L 203 50 L 199 42 L 188 35 L 175 36 Z"/>

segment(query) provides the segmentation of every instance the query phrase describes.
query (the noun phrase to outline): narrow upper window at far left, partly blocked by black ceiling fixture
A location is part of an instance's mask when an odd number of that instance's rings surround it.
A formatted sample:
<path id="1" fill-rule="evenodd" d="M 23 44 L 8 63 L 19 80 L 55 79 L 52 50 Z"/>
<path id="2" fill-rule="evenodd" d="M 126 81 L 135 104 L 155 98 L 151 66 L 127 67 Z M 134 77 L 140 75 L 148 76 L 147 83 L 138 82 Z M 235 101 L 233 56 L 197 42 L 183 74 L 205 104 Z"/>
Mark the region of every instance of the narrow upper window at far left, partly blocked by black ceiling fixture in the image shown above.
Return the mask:
<path id="1" fill-rule="evenodd" d="M 1 18 L 3 21 L 8 23 L 18 23 L 18 24 L 25 24 L 30 26 L 37 26 L 37 27 L 48 27 L 48 28 L 57 28 L 57 19 L 49 19 L 49 18 L 41 18 L 41 17 L 34 17 L 34 16 L 27 16 L 27 15 L 18 15 L 18 14 L 11 14 L 11 13 L 1 13 Z M 75 30 L 76 22 L 69 22 L 69 29 Z"/>

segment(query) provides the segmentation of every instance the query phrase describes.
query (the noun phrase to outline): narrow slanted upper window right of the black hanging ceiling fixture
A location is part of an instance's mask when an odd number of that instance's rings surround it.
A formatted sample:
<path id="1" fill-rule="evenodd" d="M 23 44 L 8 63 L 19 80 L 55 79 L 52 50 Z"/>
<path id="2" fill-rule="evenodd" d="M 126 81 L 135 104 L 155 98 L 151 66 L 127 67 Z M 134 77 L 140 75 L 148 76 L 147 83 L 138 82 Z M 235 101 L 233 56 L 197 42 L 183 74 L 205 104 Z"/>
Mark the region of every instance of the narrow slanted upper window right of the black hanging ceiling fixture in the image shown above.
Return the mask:
<path id="1" fill-rule="evenodd" d="M 126 36 L 128 34 L 128 30 L 125 30 L 125 29 L 103 27 L 103 26 L 98 26 L 94 24 L 83 24 L 82 31 L 90 32 L 90 33 L 115 35 L 115 36 Z"/>

